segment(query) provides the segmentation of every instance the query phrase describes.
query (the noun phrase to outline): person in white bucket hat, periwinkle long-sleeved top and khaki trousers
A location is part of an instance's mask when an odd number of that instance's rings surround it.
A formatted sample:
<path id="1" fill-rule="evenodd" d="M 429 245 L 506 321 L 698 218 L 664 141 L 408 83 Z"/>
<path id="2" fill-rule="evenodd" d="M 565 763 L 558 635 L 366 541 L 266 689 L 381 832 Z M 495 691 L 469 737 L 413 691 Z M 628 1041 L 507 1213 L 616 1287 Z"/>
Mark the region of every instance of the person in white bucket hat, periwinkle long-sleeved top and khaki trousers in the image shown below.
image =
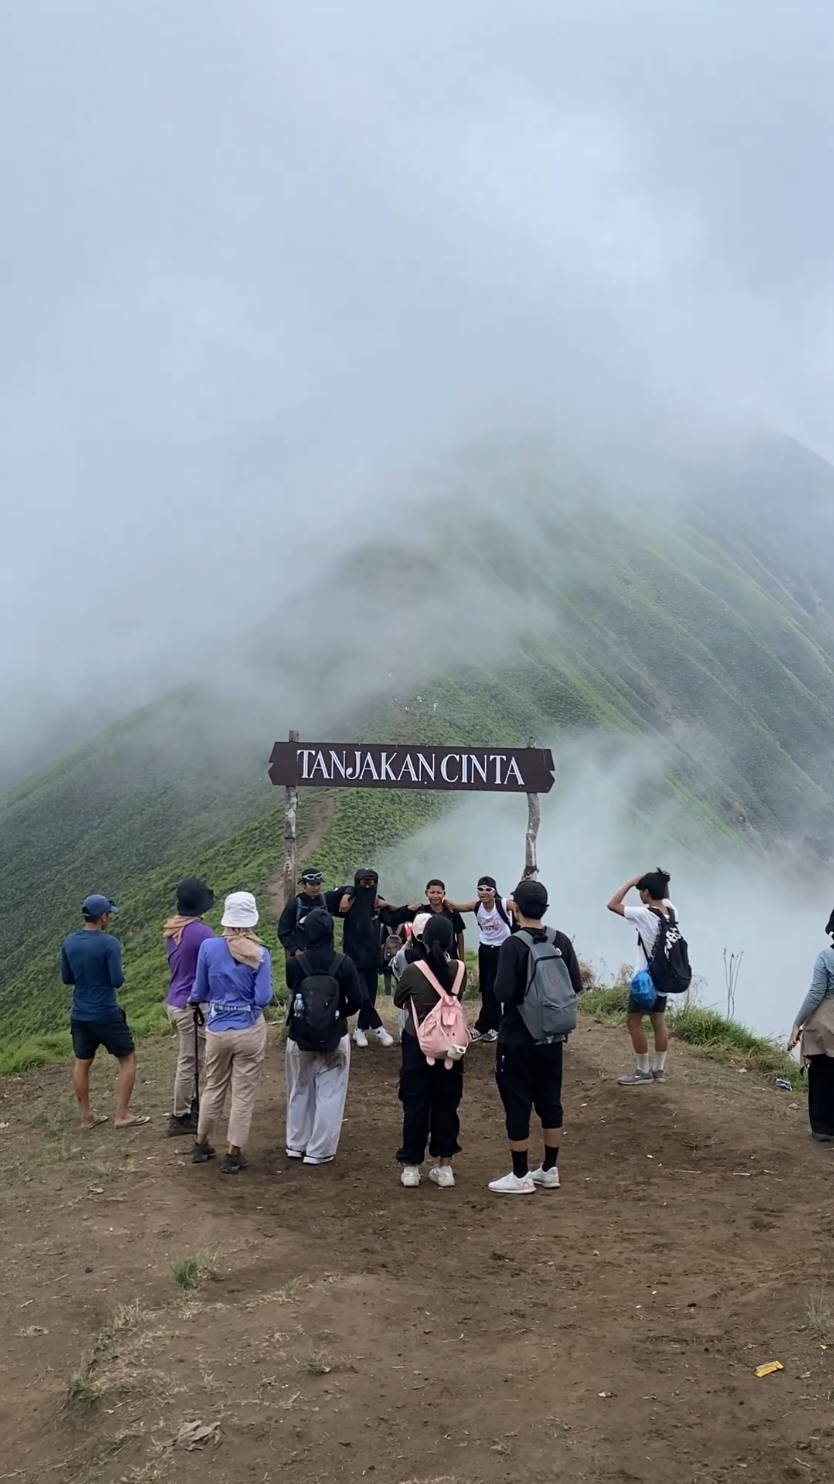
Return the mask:
<path id="1" fill-rule="evenodd" d="M 246 1169 L 245 1155 L 255 1091 L 267 1049 L 264 1009 L 272 1000 L 272 963 L 254 929 L 258 907 L 251 892 L 232 892 L 221 917 L 223 936 L 200 944 L 188 1005 L 206 1011 L 206 1085 L 200 1100 L 191 1162 L 214 1159 L 211 1134 L 232 1092 L 223 1175 Z"/>

